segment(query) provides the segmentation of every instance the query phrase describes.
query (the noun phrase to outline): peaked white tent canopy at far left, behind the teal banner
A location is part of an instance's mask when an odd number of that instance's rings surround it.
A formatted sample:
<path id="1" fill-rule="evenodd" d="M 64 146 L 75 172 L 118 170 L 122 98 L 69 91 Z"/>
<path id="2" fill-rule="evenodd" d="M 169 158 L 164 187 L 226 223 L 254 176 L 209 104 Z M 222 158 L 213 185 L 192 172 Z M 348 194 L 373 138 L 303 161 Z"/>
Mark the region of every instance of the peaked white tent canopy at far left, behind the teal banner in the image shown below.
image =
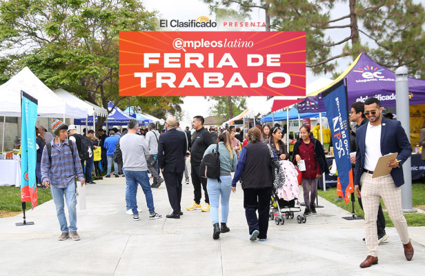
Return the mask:
<path id="1" fill-rule="evenodd" d="M 0 116 L 21 117 L 21 90 L 38 100 L 37 114 L 40 117 L 87 116 L 87 110 L 61 100 L 28 67 L 0 86 Z"/>

